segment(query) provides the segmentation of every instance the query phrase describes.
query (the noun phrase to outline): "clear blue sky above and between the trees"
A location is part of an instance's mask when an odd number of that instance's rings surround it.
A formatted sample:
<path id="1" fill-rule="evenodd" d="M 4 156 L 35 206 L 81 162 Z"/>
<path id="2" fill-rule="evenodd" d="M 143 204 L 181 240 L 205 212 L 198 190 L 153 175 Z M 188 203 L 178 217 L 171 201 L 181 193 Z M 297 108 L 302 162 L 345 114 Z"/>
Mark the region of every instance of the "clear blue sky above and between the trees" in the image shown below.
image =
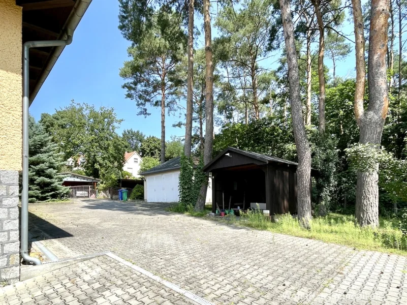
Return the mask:
<path id="1" fill-rule="evenodd" d="M 62 52 L 30 107 L 30 113 L 37 120 L 41 113 L 52 114 L 55 108 L 65 107 L 74 99 L 96 107 L 113 107 L 117 117 L 124 120 L 118 133 L 132 128 L 146 135 L 161 136 L 160 109 L 151 109 L 151 115 L 144 118 L 136 115 L 135 102 L 124 98 L 126 92 L 121 88 L 124 80 L 118 73 L 124 60 L 128 59 L 129 42 L 117 28 L 118 12 L 115 0 L 91 3 L 75 31 L 73 43 Z M 352 26 L 345 26 L 343 32 L 352 35 Z M 337 75 L 354 76 L 354 56 L 352 53 L 345 62 L 337 65 Z M 332 66 L 328 58 L 325 64 Z M 166 117 L 167 140 L 171 135 L 184 135 L 183 129 L 172 127 L 176 121 L 179 121 L 178 115 Z"/>

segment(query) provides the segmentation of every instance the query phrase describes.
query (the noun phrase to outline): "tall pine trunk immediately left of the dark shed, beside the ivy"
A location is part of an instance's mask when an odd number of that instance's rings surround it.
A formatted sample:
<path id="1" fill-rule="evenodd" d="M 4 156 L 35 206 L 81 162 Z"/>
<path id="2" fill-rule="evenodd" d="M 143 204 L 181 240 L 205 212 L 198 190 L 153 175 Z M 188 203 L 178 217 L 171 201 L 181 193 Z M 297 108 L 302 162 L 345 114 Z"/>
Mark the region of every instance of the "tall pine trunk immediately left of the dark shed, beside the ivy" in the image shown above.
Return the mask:
<path id="1" fill-rule="evenodd" d="M 203 0 L 204 11 L 204 32 L 205 32 L 205 147 L 204 147 L 204 164 L 208 164 L 212 160 L 212 144 L 213 144 L 213 51 L 212 51 L 212 31 L 210 24 L 209 0 Z M 198 201 L 195 205 L 195 210 L 203 210 L 205 208 L 206 191 L 208 187 L 209 174 L 206 175 L 206 180 L 201 186 Z"/>

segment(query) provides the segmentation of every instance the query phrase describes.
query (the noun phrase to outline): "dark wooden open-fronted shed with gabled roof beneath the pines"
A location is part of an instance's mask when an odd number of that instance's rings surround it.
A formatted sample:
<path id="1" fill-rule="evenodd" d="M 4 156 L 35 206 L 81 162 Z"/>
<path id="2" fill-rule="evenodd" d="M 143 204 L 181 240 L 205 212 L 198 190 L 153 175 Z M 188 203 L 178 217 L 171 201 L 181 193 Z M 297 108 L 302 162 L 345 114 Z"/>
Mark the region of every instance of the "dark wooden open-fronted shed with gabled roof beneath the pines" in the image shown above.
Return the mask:
<path id="1" fill-rule="evenodd" d="M 212 173 L 212 211 L 266 203 L 270 215 L 297 212 L 297 163 L 228 147 L 203 170 Z M 310 181 L 311 187 L 311 181 Z"/>

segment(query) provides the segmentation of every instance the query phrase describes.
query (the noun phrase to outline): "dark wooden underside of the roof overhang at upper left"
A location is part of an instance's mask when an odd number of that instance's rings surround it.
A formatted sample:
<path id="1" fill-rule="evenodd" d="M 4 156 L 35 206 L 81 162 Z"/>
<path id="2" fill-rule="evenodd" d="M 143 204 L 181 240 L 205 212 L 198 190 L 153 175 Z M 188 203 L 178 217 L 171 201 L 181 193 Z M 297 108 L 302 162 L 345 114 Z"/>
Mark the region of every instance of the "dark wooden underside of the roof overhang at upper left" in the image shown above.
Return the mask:
<path id="1" fill-rule="evenodd" d="M 91 0 L 16 0 L 22 7 L 22 44 L 66 39 L 73 33 Z M 29 101 L 33 102 L 64 47 L 30 48 Z"/>

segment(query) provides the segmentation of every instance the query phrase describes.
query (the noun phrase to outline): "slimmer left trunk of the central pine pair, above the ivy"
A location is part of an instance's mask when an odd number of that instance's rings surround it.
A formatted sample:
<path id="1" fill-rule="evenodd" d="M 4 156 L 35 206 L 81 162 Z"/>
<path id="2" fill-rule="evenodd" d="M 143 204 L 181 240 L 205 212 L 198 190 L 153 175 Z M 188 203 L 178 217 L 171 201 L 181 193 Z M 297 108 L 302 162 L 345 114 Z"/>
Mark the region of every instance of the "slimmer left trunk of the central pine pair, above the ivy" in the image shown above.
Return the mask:
<path id="1" fill-rule="evenodd" d="M 194 0 L 188 5 L 188 68 L 186 78 L 186 122 L 184 154 L 191 157 L 192 145 L 192 110 L 193 110 L 193 86 L 194 86 Z"/>

